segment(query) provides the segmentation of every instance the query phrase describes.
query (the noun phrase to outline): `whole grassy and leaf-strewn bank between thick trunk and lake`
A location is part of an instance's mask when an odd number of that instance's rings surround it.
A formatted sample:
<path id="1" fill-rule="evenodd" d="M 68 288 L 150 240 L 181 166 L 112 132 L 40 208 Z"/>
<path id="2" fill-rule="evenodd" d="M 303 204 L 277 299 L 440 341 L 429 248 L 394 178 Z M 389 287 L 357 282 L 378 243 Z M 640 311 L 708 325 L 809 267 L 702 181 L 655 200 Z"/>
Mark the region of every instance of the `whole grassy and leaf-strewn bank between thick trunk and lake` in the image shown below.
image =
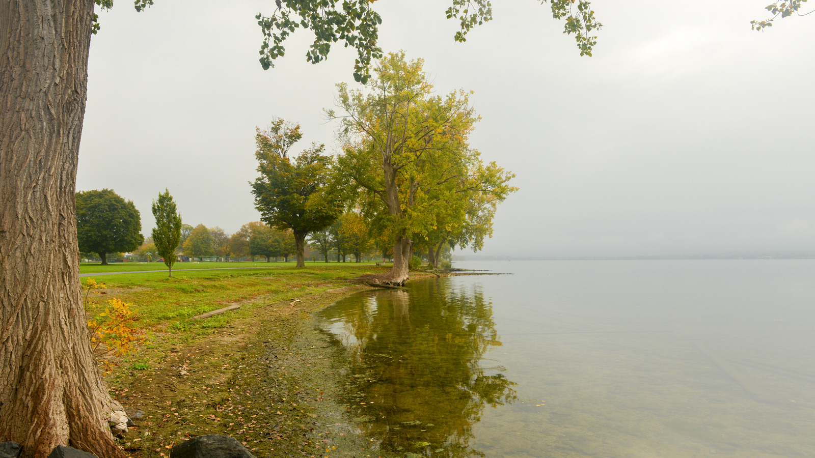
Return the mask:
<path id="1" fill-rule="evenodd" d="M 187 438 L 227 434 L 258 458 L 380 456 L 346 415 L 342 368 L 311 325 L 314 310 L 366 288 L 347 280 L 377 271 L 384 268 L 334 264 L 95 277 L 108 288 L 91 306 L 112 296 L 130 302 L 150 334 L 107 377 L 135 423 L 121 447 L 133 457 L 169 456 Z M 240 310 L 190 319 L 234 303 Z"/>

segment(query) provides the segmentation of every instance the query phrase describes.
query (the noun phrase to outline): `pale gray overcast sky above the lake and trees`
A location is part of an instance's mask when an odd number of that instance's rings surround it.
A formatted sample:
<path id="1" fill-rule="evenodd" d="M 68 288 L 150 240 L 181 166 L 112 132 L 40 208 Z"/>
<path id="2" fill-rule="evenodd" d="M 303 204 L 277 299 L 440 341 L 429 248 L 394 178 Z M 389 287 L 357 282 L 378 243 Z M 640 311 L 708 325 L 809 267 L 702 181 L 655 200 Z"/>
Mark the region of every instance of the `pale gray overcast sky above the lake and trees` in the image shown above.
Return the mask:
<path id="1" fill-rule="evenodd" d="M 254 130 L 272 117 L 333 149 L 322 110 L 355 53 L 307 64 L 297 30 L 264 72 L 254 15 L 274 2 L 228 3 L 100 14 L 77 191 L 133 200 L 145 234 L 165 187 L 193 226 L 258 220 Z M 447 3 L 379 0 L 380 45 L 425 59 L 440 93 L 474 90 L 472 144 L 518 175 L 484 254 L 815 252 L 815 15 L 756 33 L 768 0 L 597 0 L 588 58 L 540 2 L 496 0 L 466 43 Z"/>

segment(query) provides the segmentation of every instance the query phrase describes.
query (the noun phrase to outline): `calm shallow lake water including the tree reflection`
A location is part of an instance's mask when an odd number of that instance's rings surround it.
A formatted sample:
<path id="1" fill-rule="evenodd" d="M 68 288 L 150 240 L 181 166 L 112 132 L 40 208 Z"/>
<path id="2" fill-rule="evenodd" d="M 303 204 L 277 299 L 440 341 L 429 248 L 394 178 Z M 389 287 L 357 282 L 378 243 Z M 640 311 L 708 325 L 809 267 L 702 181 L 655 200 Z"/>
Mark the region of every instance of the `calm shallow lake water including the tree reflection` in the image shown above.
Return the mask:
<path id="1" fill-rule="evenodd" d="M 815 261 L 460 262 L 319 315 L 392 456 L 815 456 Z"/>

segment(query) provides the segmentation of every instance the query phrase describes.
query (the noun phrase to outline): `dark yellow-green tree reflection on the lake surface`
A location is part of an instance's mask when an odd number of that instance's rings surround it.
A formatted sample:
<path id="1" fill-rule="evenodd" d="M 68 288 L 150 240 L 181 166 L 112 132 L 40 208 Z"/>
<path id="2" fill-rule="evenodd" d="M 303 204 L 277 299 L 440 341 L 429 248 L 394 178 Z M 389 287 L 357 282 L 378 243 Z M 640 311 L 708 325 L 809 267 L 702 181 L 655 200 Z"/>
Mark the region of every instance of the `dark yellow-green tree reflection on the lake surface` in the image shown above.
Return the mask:
<path id="1" fill-rule="evenodd" d="M 320 317 L 346 349 L 363 434 L 400 456 L 483 456 L 469 446 L 473 426 L 516 395 L 504 368 L 482 361 L 501 345 L 482 293 L 426 280 L 348 297 Z"/>

